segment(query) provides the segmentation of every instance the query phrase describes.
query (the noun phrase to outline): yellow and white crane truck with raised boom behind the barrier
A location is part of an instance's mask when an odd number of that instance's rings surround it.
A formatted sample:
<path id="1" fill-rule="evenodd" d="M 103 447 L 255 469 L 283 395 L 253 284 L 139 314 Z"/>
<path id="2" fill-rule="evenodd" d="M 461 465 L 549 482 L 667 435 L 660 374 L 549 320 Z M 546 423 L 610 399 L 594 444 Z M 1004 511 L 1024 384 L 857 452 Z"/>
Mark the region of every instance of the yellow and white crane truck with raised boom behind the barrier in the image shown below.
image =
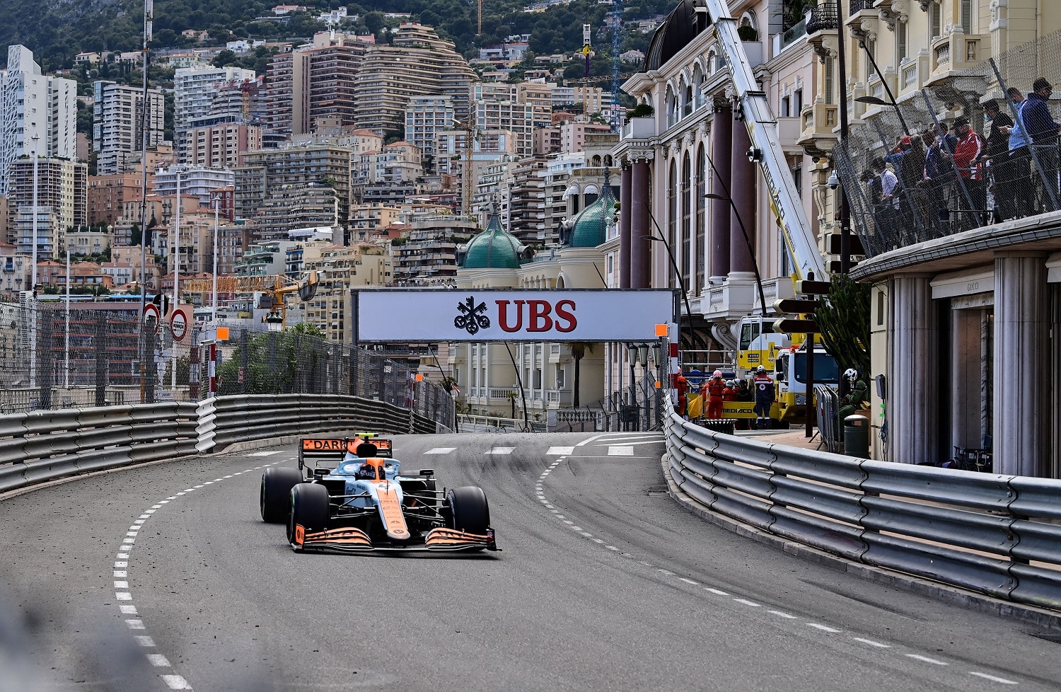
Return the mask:
<path id="1" fill-rule="evenodd" d="M 748 158 L 759 162 L 770 197 L 770 209 L 781 228 L 785 248 L 793 260 L 793 280 L 799 293 L 801 280 L 827 280 L 828 271 L 818 252 L 817 239 L 796 190 L 781 148 L 778 121 L 770 110 L 766 92 L 759 87 L 744 45 L 737 35 L 737 21 L 725 0 L 695 0 L 696 12 L 705 12 L 712 20 L 715 36 L 730 69 L 730 80 L 736 107 L 743 113 L 752 149 Z M 806 405 L 806 342 L 814 343 L 814 381 L 836 387 L 839 383 L 836 360 L 815 340 L 804 334 L 775 333 L 772 319 L 748 315 L 725 329 L 713 330 L 724 346 L 735 350 L 734 363 L 724 369 L 727 379 L 748 379 L 759 365 L 775 378 L 776 400 L 770 418 L 783 423 L 802 418 Z M 731 336 L 731 338 L 728 338 Z M 706 375 L 710 376 L 708 370 Z M 697 402 L 698 404 L 699 402 Z M 727 401 L 723 416 L 754 418 L 753 402 Z M 690 405 L 692 417 L 693 405 Z"/>

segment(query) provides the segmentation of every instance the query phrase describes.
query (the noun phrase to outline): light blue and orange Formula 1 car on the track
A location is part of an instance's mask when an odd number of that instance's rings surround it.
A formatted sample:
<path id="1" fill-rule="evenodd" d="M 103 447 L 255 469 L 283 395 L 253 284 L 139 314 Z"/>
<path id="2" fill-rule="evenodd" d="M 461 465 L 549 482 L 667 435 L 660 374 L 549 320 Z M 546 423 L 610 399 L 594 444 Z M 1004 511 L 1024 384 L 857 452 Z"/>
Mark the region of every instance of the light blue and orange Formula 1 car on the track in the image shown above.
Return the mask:
<path id="1" fill-rule="evenodd" d="M 433 469 L 402 474 L 390 451 L 367 433 L 302 438 L 297 469 L 262 473 L 262 520 L 285 521 L 296 552 L 500 550 L 481 488 L 439 491 Z"/>

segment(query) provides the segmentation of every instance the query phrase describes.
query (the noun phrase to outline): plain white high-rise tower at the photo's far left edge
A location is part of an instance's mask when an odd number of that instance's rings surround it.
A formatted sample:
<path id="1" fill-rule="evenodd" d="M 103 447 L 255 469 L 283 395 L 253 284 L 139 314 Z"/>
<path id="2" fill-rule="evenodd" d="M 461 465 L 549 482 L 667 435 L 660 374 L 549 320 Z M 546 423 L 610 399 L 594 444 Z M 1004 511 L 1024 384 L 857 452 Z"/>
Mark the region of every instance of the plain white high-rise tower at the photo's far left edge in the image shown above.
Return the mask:
<path id="1" fill-rule="evenodd" d="M 76 135 L 77 83 L 42 74 L 33 51 L 10 46 L 0 70 L 0 196 L 10 193 L 20 156 L 76 160 Z"/>

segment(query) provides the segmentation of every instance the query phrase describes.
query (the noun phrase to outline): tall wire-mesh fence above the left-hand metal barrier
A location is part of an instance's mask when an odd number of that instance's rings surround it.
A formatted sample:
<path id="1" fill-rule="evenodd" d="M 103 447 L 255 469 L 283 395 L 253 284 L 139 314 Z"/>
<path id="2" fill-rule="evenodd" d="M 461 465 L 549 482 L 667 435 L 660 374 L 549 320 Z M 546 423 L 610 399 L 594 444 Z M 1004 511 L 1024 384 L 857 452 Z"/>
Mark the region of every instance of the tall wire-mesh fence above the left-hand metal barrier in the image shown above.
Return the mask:
<path id="1" fill-rule="evenodd" d="M 343 394 L 413 409 L 451 426 L 453 399 L 395 361 L 300 331 L 190 325 L 182 341 L 141 329 L 139 304 L 70 309 L 0 304 L 0 414 L 196 401 L 232 394 Z"/>

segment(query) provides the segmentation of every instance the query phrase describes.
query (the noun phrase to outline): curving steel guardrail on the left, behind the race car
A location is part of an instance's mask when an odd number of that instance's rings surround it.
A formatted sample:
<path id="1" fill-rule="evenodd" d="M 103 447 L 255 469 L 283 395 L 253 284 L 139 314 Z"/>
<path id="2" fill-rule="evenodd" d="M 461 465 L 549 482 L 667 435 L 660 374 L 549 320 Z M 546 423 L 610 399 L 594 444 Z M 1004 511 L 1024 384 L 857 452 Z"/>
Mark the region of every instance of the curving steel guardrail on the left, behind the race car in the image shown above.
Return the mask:
<path id="1" fill-rule="evenodd" d="M 220 451 L 232 443 L 333 430 L 448 431 L 390 403 L 331 394 L 236 395 L 201 402 L 0 416 L 0 492 L 87 471 Z"/>

